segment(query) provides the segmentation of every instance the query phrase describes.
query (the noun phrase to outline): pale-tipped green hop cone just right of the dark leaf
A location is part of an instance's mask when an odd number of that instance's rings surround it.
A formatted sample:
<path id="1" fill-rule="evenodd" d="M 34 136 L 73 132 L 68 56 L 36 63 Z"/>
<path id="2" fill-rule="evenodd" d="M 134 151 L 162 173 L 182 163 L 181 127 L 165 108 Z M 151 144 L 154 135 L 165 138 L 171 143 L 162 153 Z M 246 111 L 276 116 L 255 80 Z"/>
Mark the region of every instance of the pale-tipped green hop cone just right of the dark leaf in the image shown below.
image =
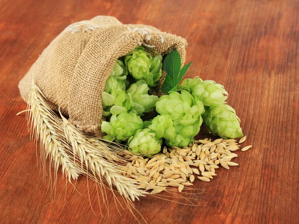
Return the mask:
<path id="1" fill-rule="evenodd" d="M 205 106 L 223 103 L 228 96 L 223 85 L 212 80 L 202 81 L 199 77 L 185 78 L 179 85 L 203 102 Z"/>

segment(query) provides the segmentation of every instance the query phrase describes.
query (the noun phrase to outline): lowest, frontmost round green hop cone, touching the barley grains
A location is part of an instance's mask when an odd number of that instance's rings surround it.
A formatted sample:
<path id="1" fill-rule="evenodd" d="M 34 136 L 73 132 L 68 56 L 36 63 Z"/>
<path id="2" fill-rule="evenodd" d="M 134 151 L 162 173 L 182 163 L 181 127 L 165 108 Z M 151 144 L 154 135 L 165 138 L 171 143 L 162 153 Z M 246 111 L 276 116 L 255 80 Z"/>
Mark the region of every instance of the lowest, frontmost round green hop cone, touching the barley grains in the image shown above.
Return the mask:
<path id="1" fill-rule="evenodd" d="M 139 129 L 128 140 L 129 150 L 150 157 L 161 149 L 161 140 L 149 128 Z"/>

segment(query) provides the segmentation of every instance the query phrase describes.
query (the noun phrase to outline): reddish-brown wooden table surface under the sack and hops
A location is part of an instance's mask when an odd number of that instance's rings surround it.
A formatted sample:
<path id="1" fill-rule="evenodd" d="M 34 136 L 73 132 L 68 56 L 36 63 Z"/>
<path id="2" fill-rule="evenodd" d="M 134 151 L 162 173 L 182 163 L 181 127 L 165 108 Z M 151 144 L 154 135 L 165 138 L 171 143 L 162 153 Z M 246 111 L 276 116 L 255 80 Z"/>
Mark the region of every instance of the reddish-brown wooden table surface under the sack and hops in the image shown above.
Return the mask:
<path id="1" fill-rule="evenodd" d="M 113 15 L 187 39 L 188 77 L 222 83 L 241 118 L 247 152 L 240 165 L 196 181 L 197 207 L 153 197 L 136 202 L 148 223 L 299 223 L 299 2 L 297 0 L 0 1 L 0 223 L 136 223 L 100 214 L 95 186 L 59 174 L 50 200 L 29 142 L 26 104 L 17 84 L 42 50 L 70 23 Z M 194 190 L 193 192 L 199 192 Z M 176 202 L 181 202 L 174 199 Z M 103 205 L 102 205 L 103 206 Z M 103 212 L 107 216 L 107 212 Z M 140 219 L 141 220 L 141 219 Z M 142 220 L 141 220 L 142 221 Z"/>

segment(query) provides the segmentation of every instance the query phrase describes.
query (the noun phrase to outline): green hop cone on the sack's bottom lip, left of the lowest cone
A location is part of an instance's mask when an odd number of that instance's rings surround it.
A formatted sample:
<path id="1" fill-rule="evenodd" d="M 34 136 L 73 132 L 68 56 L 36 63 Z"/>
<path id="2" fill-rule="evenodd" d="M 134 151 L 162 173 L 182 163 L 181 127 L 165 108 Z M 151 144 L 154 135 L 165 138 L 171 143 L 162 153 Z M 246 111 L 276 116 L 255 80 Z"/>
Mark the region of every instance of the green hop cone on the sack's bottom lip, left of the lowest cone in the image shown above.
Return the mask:
<path id="1" fill-rule="evenodd" d="M 102 132 L 107 135 L 104 139 L 120 143 L 128 140 L 137 129 L 143 128 L 143 121 L 133 112 L 122 112 L 119 115 L 112 115 L 110 122 L 102 122 Z"/>

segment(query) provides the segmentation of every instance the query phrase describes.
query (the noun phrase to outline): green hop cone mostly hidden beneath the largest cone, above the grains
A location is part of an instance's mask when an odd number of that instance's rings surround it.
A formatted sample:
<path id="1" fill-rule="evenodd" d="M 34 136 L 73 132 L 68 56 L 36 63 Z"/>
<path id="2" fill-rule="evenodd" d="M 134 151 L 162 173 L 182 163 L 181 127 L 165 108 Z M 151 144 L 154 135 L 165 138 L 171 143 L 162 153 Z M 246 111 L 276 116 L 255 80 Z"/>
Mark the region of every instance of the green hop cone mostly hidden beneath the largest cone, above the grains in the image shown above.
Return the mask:
<path id="1" fill-rule="evenodd" d="M 167 146 L 177 146 L 185 147 L 189 143 L 194 142 L 194 137 L 199 133 L 200 126 L 202 124 L 202 117 L 200 116 L 198 120 L 193 125 L 180 126 L 175 125 L 175 135 L 173 138 L 166 140 L 165 143 Z"/>

